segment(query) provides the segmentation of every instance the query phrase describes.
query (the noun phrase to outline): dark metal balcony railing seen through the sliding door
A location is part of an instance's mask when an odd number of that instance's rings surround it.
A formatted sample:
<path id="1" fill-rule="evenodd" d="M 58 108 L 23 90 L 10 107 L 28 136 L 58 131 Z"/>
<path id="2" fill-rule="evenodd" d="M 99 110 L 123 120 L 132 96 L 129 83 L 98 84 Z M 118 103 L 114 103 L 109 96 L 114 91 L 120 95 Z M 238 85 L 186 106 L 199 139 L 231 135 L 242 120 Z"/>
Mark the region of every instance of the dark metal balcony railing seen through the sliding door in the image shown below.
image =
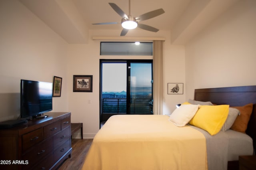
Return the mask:
<path id="1" fill-rule="evenodd" d="M 131 99 L 130 114 L 152 114 L 150 105 L 151 99 Z M 102 99 L 102 113 L 126 114 L 126 99 L 124 98 L 104 98 Z"/>

